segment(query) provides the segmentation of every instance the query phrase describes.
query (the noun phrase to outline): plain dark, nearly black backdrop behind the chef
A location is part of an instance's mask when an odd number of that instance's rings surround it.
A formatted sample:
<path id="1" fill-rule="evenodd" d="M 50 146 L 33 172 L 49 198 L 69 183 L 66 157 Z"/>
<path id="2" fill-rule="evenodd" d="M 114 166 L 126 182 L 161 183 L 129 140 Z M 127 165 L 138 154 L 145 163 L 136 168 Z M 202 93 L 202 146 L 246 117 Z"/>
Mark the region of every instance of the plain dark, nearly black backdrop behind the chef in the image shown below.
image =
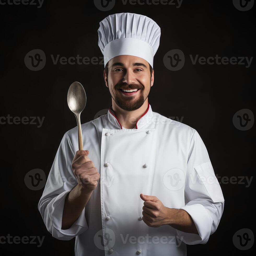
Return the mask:
<path id="1" fill-rule="evenodd" d="M 36 1 L 37 2 L 37 1 Z M 177 1 L 174 1 L 177 3 Z M 189 55 L 254 56 L 255 19 L 251 10 L 237 10 L 232 1 L 188 1 L 175 5 L 123 5 L 116 1 L 110 11 L 98 10 L 93 1 L 49 1 L 35 5 L 0 5 L 1 10 L 1 117 L 45 117 L 42 127 L 1 124 L 1 236 L 45 236 L 43 245 L 0 244 L 1 251 L 33 255 L 74 255 L 74 241 L 60 241 L 46 230 L 38 211 L 43 189 L 32 191 L 24 183 L 26 173 L 42 169 L 49 174 L 64 133 L 76 121 L 67 106 L 67 91 L 74 81 L 85 88 L 87 103 L 81 121 L 110 106 L 111 97 L 103 80 L 103 65 L 53 64 L 51 55 L 102 57 L 98 47 L 99 22 L 114 13 L 139 13 L 161 28 L 159 49 L 154 57 L 155 82 L 149 94 L 154 112 L 183 118 L 202 137 L 214 171 L 221 177 L 247 176 L 255 171 L 254 126 L 237 129 L 232 118 L 240 109 L 253 109 L 255 60 L 245 65 L 192 65 Z M 41 49 L 46 65 L 31 71 L 25 55 Z M 163 56 L 181 49 L 185 65 L 168 70 Z M 254 82 L 255 83 L 255 82 Z M 177 120 L 177 118 L 176 118 Z M 245 181 L 245 180 L 243 180 Z M 236 231 L 253 231 L 254 184 L 220 184 L 225 207 L 217 231 L 205 245 L 187 246 L 188 255 L 251 255 L 238 250 Z M 7 255 L 7 254 L 5 254 Z"/>

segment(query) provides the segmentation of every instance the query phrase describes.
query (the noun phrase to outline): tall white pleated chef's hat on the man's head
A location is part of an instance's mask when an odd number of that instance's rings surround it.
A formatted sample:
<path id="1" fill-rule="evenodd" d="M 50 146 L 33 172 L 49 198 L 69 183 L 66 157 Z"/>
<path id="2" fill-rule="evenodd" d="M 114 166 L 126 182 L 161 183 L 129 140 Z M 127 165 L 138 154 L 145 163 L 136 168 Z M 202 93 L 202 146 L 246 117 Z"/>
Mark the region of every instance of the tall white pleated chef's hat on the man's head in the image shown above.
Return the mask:
<path id="1" fill-rule="evenodd" d="M 161 30 L 155 21 L 134 13 L 109 15 L 98 29 L 104 66 L 118 55 L 133 55 L 146 60 L 153 67 Z"/>

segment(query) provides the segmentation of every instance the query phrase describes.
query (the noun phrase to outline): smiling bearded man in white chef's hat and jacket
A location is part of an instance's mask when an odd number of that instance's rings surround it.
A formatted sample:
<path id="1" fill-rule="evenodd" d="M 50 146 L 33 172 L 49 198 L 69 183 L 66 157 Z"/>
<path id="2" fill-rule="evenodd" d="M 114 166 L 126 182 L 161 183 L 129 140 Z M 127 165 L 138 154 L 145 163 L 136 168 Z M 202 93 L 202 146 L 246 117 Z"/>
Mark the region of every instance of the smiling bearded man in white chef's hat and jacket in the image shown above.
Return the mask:
<path id="1" fill-rule="evenodd" d="M 216 231 L 224 198 L 197 131 L 153 112 L 160 27 L 132 13 L 100 22 L 98 45 L 112 105 L 65 133 L 39 211 L 76 255 L 186 255 Z"/>

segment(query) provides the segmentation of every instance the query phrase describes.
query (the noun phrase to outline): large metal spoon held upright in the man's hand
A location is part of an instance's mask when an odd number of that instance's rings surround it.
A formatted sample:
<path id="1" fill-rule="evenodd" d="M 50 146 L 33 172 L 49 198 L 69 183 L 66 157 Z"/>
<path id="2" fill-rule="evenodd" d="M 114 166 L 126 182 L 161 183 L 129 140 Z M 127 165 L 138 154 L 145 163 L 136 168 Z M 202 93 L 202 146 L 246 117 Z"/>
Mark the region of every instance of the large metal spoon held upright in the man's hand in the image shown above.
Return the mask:
<path id="1" fill-rule="evenodd" d="M 84 110 L 86 104 L 86 94 L 85 90 L 79 82 L 74 82 L 70 85 L 68 89 L 68 107 L 75 114 L 77 119 L 77 130 L 78 130 L 78 148 L 83 150 L 83 138 L 80 114 Z"/>

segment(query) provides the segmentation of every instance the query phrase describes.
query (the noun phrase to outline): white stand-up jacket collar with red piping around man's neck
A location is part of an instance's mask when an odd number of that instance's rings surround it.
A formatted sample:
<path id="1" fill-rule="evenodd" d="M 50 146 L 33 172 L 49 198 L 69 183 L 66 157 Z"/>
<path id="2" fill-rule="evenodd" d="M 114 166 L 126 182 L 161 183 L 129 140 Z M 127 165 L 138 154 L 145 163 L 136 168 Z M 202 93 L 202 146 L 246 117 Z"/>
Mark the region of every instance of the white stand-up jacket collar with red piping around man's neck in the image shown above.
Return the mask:
<path id="1" fill-rule="evenodd" d="M 133 129 L 142 129 L 143 127 L 146 129 L 147 125 L 151 123 L 151 119 L 153 116 L 152 108 L 150 104 L 148 103 L 148 108 L 146 111 L 141 115 L 141 117 L 137 120 L 136 125 Z M 119 123 L 117 117 L 115 116 L 115 112 L 112 108 L 112 105 L 110 105 L 108 109 L 108 120 L 109 122 L 114 126 L 113 129 L 126 129 L 125 127 L 122 127 Z"/>

